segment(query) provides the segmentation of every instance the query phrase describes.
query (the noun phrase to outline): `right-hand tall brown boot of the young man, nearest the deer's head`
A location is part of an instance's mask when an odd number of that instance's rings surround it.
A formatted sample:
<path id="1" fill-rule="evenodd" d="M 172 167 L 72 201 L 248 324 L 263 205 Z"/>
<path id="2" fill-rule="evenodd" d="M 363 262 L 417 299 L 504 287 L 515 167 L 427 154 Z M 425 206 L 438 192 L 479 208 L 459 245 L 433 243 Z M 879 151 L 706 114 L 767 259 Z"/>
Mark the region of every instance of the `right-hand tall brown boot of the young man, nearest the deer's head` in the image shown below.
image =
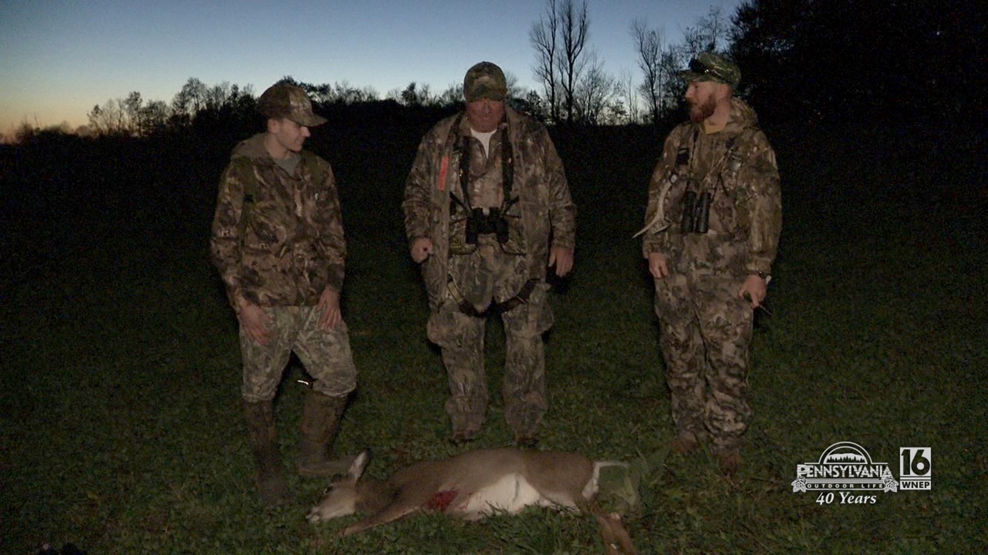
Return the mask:
<path id="1" fill-rule="evenodd" d="M 353 457 L 333 457 L 333 442 L 340 431 L 346 407 L 347 396 L 331 397 L 312 390 L 305 393 L 298 474 L 305 478 L 320 478 L 345 474 L 350 468 Z"/>

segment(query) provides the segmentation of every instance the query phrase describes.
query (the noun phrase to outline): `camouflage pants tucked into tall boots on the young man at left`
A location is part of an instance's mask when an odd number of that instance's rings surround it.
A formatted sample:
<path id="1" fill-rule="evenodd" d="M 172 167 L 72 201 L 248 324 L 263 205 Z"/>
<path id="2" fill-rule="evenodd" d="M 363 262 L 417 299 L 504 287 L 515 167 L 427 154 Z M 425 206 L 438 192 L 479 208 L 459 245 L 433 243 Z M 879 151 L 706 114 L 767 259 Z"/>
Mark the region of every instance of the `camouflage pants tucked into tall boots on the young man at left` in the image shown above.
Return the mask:
<path id="1" fill-rule="evenodd" d="M 244 400 L 270 401 L 275 397 L 292 351 L 315 378 L 315 391 L 340 397 L 356 389 L 357 367 L 346 324 L 323 331 L 319 328 L 321 313 L 315 306 L 264 307 L 264 311 L 272 320 L 268 345 L 255 343 L 240 330 Z"/>

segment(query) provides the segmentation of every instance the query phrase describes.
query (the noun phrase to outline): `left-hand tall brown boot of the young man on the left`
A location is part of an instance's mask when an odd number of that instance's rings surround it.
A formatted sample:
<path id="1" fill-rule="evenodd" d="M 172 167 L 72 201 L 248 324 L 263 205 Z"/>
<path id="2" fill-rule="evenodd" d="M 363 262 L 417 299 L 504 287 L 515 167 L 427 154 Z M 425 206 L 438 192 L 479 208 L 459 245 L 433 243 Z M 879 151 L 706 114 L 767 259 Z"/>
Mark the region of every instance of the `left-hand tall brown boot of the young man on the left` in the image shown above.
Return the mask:
<path id="1" fill-rule="evenodd" d="M 257 460 L 255 484 L 261 500 L 266 505 L 284 505 L 291 502 L 288 485 L 282 475 L 281 457 L 278 453 L 278 433 L 275 430 L 275 411 L 271 401 L 252 403 L 244 401 L 244 416 L 250 432 L 251 447 Z"/>

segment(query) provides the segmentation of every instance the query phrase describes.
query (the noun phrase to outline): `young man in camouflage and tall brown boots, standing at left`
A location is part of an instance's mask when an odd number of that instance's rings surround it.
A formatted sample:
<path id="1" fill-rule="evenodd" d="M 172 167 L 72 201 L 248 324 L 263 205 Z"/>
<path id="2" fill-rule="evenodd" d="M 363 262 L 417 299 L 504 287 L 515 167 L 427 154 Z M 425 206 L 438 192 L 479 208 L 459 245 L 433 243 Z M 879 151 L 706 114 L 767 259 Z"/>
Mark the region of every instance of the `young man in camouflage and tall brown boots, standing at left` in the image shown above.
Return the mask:
<path id="1" fill-rule="evenodd" d="M 314 379 L 302 413 L 302 476 L 340 470 L 331 456 L 357 385 L 340 312 L 346 242 L 333 171 L 302 150 L 312 113 L 302 89 L 275 85 L 258 99 L 265 132 L 233 149 L 219 184 L 211 255 L 240 324 L 243 406 L 268 504 L 290 499 L 273 399 L 292 351 Z M 344 468 L 345 469 L 345 468 Z"/>

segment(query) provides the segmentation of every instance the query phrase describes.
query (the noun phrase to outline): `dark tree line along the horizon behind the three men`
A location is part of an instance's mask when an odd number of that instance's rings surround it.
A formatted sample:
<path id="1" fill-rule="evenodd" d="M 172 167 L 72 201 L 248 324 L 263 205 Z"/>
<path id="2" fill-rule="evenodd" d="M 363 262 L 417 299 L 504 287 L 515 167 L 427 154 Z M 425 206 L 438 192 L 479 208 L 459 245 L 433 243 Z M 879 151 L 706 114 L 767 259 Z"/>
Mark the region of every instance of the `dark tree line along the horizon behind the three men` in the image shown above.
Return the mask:
<path id="1" fill-rule="evenodd" d="M 637 83 L 608 75 L 588 41 L 586 0 L 547 0 L 533 24 L 535 78 L 541 91 L 509 79 L 510 102 L 550 122 L 587 124 L 681 119 L 684 83 L 678 70 L 706 49 L 741 66 L 739 95 L 763 119 L 836 121 L 958 119 L 983 122 L 985 11 L 973 0 L 747 0 L 728 19 L 716 8 L 668 43 L 661 29 L 634 19 L 630 37 Z M 428 119 L 462 103 L 461 86 L 434 93 L 410 83 L 383 100 L 370 87 L 347 82 L 304 88 L 318 109 L 344 122 Z M 640 94 L 640 97 L 638 96 Z M 79 134 L 147 136 L 231 125 L 236 132 L 258 124 L 250 85 L 206 85 L 190 78 L 170 103 L 147 101 L 137 91 L 94 106 Z M 52 132 L 66 132 L 63 123 Z M 15 138 L 42 129 L 25 122 Z"/>

